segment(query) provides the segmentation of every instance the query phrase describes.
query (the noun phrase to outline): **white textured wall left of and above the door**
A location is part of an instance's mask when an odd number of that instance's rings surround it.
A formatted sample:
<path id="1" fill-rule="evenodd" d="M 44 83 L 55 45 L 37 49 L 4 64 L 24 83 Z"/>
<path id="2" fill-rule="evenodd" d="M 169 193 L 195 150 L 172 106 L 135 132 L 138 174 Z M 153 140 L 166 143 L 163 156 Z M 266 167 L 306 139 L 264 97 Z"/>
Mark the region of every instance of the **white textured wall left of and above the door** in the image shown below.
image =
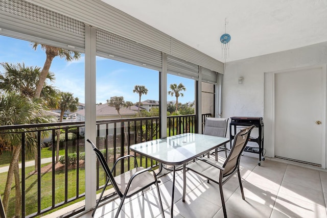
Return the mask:
<path id="1" fill-rule="evenodd" d="M 232 54 L 231 54 L 232 55 Z M 271 122 L 267 114 L 271 108 L 265 103 L 265 72 L 291 69 L 304 66 L 316 66 L 327 63 L 327 42 L 314 44 L 299 49 L 227 62 L 222 89 L 222 117 L 261 116 L 264 117 L 264 147 L 266 156 L 273 156 L 271 143 Z M 238 78 L 244 77 L 242 84 Z M 266 80 L 267 81 L 267 80 Z M 254 132 L 256 134 L 256 132 Z M 227 137 L 229 131 L 227 131 Z"/>

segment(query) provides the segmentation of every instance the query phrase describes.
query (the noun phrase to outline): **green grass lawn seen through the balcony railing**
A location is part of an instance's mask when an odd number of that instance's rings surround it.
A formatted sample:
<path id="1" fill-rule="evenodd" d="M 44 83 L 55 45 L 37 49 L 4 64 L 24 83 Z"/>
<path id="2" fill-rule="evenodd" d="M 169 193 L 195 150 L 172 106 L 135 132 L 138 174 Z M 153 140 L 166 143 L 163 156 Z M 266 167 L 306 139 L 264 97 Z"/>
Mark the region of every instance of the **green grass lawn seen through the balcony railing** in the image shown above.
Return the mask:
<path id="1" fill-rule="evenodd" d="M 131 159 L 131 166 L 133 166 L 133 160 Z M 142 165 L 145 166 L 145 158 L 142 159 Z M 48 164 L 48 163 L 47 163 Z M 47 165 L 42 164 L 41 167 Z M 125 169 L 127 169 L 127 161 L 124 162 Z M 138 159 L 139 164 L 139 159 Z M 154 164 L 154 161 L 153 163 Z M 112 165 L 112 164 L 111 164 Z M 148 159 L 148 166 L 151 165 L 150 160 Z M 117 173 L 120 173 L 120 165 L 116 166 Z M 37 212 L 37 175 L 29 175 L 29 172 L 32 172 L 34 170 L 34 166 L 26 167 L 26 214 L 32 214 L 34 212 Z M 100 166 L 100 173 L 99 173 L 99 181 L 100 186 L 104 185 L 105 183 L 105 174 L 103 172 L 103 169 Z M 69 169 L 68 170 L 68 197 L 73 198 L 76 196 L 76 179 L 77 178 L 77 169 Z M 7 180 L 7 173 L 1 173 L 0 174 L 0 181 L 6 181 Z M 21 180 L 21 174 L 20 174 L 20 180 Z M 47 172 L 44 174 L 41 174 L 41 210 L 48 208 L 52 205 L 52 172 Z M 0 193 L 3 197 L 3 193 L 5 190 L 5 182 L 0 183 Z M 55 204 L 63 202 L 65 199 L 64 195 L 64 187 L 65 187 L 65 173 L 64 170 L 56 171 L 55 172 Z M 107 189 L 110 187 L 107 187 Z M 83 193 L 85 191 L 85 171 L 84 168 L 79 169 L 79 194 Z M 101 192 L 101 190 L 98 191 L 98 193 Z M 70 202 L 68 204 L 65 204 L 62 207 L 66 207 L 70 204 L 74 204 L 78 201 L 83 200 L 84 198 L 80 198 L 75 200 L 74 202 Z M 8 207 L 8 217 L 13 217 L 14 215 L 14 208 L 15 208 L 15 185 L 14 182 L 12 184 L 12 189 L 10 193 L 10 200 L 9 200 L 9 207 Z M 57 208 L 55 210 L 58 210 L 60 208 Z M 48 213 L 51 213 L 55 210 L 52 210 Z"/>

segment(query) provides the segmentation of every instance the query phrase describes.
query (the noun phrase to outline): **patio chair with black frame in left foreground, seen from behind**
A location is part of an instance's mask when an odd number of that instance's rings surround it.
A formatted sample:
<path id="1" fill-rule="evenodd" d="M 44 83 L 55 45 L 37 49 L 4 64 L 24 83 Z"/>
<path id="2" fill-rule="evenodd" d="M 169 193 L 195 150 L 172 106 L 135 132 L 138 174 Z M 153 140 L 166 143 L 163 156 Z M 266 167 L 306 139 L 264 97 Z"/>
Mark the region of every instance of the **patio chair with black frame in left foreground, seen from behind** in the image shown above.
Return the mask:
<path id="1" fill-rule="evenodd" d="M 101 195 L 97 202 L 97 205 L 96 205 L 94 211 L 92 212 L 92 217 L 94 216 L 94 214 L 98 208 L 99 202 L 101 201 L 101 198 L 102 198 L 103 193 L 108 185 L 109 180 L 111 181 L 111 184 L 112 184 L 114 190 L 117 192 L 117 194 L 119 195 L 119 197 L 121 199 L 121 203 L 118 207 L 117 213 L 115 214 L 115 218 L 118 217 L 126 198 L 130 198 L 140 191 L 142 191 L 142 195 L 144 196 L 144 192 L 143 192 L 144 189 L 150 187 L 151 185 L 155 185 L 157 187 L 161 213 L 162 213 L 162 216 L 165 217 L 164 208 L 162 208 L 160 191 L 159 191 L 159 187 L 158 187 L 158 180 L 157 180 L 156 174 L 153 171 L 153 169 L 144 168 L 142 166 L 138 167 L 136 158 L 133 155 L 126 155 L 124 157 L 120 157 L 119 159 L 117 159 L 115 161 L 115 163 L 113 164 L 113 167 L 110 171 L 109 166 L 108 166 L 105 158 L 103 157 L 102 153 L 100 152 L 100 150 L 89 139 L 87 139 L 87 141 L 91 144 L 93 151 L 96 152 L 98 160 L 101 163 L 101 165 L 107 175 L 107 181 L 105 183 L 105 186 L 103 187 L 103 190 L 101 192 Z M 114 171 L 116 164 L 119 161 L 126 159 L 126 158 L 134 158 L 134 163 L 135 163 L 136 167 L 125 173 L 122 173 L 121 175 L 114 177 L 112 175 L 112 172 Z"/>

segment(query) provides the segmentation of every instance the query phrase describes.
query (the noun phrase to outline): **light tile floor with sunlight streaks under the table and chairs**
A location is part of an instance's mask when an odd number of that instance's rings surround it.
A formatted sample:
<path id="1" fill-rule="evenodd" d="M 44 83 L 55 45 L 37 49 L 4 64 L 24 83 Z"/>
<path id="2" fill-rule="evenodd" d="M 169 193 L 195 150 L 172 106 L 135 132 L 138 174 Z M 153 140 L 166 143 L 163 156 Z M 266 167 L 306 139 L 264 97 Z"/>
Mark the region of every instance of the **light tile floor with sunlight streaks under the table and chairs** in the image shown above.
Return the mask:
<path id="1" fill-rule="evenodd" d="M 241 176 L 245 201 L 242 200 L 237 176 L 223 186 L 228 217 L 327 217 L 327 172 L 271 159 L 258 165 L 258 156 L 241 157 Z M 160 177 L 159 184 L 165 216 L 171 217 L 172 174 Z M 223 217 L 219 186 L 202 177 L 187 173 L 185 202 L 182 202 L 182 172 L 176 174 L 173 217 Z M 99 207 L 95 217 L 114 217 L 120 199 Z M 157 192 L 149 189 L 127 199 L 119 217 L 162 217 Z M 91 212 L 75 217 L 90 217 Z"/>

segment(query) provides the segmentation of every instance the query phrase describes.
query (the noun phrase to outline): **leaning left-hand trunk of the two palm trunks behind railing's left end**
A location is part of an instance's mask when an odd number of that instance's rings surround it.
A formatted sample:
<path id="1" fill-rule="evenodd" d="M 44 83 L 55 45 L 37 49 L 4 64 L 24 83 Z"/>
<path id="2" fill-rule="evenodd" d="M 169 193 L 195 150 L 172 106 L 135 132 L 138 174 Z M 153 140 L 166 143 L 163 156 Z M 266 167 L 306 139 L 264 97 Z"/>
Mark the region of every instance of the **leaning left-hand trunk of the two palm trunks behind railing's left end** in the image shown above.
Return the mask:
<path id="1" fill-rule="evenodd" d="M 11 184 L 12 184 L 12 180 L 13 180 L 13 176 L 14 176 L 15 166 L 16 166 L 16 164 L 18 164 L 20 150 L 21 150 L 21 144 L 13 147 L 12 159 L 11 159 L 11 162 L 9 165 L 7 181 L 6 181 L 5 191 L 4 191 L 4 202 L 3 203 L 4 203 L 5 213 L 7 213 L 7 210 L 8 210 Z"/>

